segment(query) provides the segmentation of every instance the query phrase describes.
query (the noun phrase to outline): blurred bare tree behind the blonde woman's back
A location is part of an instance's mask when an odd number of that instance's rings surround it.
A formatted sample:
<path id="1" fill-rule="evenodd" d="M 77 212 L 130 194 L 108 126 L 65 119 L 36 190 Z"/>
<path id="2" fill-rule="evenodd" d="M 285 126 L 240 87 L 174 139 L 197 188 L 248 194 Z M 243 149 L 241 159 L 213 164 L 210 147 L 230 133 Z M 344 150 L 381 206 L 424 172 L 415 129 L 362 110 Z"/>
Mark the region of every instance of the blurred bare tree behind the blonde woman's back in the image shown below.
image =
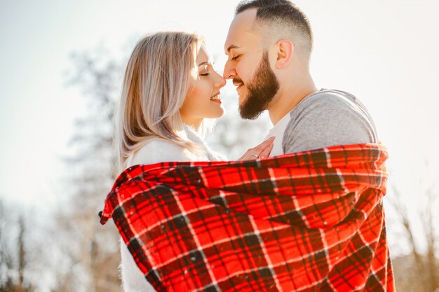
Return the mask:
<path id="1" fill-rule="evenodd" d="M 58 279 L 53 290 L 120 291 L 119 234 L 114 226 L 102 227 L 97 216 L 115 179 L 112 130 L 120 69 L 102 50 L 76 53 L 72 60 L 69 85 L 81 88 L 88 111 L 76 121 L 75 153 L 65 158 L 69 192 L 53 226 L 63 268 L 53 267 Z"/>

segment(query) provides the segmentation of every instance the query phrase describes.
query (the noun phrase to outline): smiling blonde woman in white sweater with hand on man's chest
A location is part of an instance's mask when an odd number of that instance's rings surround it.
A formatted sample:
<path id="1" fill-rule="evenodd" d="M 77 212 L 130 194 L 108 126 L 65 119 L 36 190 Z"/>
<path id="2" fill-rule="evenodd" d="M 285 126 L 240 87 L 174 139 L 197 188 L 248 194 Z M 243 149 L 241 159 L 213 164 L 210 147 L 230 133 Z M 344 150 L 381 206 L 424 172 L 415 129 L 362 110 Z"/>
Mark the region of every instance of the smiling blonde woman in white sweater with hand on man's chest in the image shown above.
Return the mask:
<path id="1" fill-rule="evenodd" d="M 203 39 L 161 32 L 141 39 L 128 60 L 119 111 L 119 170 L 165 161 L 219 160 L 203 141 L 206 118 L 224 113 Z M 273 139 L 249 149 L 240 160 L 267 157 Z M 121 241 L 123 290 L 154 291 Z"/>

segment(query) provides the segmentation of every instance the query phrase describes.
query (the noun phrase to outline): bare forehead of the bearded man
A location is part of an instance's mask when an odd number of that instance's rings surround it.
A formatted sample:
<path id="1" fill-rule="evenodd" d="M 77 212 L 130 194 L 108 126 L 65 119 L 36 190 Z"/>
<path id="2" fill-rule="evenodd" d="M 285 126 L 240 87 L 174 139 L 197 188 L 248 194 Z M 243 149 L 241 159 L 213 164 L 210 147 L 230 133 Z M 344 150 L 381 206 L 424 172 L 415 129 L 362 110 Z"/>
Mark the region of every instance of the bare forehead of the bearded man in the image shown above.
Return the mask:
<path id="1" fill-rule="evenodd" d="M 253 22 L 257 13 L 256 8 L 248 9 L 235 16 L 227 34 L 226 43 L 224 43 L 224 50 L 228 53 L 228 49 L 240 46 L 239 43 L 245 42 L 248 39 L 253 39 L 255 36 L 253 32 Z"/>

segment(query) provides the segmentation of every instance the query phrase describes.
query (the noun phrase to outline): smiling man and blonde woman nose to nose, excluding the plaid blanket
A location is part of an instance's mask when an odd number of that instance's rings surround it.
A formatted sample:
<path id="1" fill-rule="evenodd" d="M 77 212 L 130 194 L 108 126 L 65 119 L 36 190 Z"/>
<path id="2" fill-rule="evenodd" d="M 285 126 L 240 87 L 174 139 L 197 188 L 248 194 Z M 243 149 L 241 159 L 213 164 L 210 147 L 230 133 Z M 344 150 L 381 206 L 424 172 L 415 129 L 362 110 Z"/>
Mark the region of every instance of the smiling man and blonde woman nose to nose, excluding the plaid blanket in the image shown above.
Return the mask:
<path id="1" fill-rule="evenodd" d="M 219 91 L 226 79 L 236 85 L 242 118 L 257 118 L 268 110 L 274 125 L 265 141 L 248 150 L 240 160 L 335 145 L 377 143 L 372 118 L 356 97 L 316 88 L 309 73 L 312 48 L 309 20 L 288 0 L 238 4 L 224 44 L 228 60 L 223 76 L 213 69 L 200 36 L 161 32 L 141 39 L 128 61 L 121 94 L 121 171 L 166 161 L 224 160 L 205 144 L 203 133 L 208 127 L 205 119 L 219 118 L 224 112 Z M 124 291 L 155 291 L 123 241 L 121 257 Z M 351 267 L 356 267 L 356 263 L 351 263 Z M 391 268 L 389 271 L 391 274 Z M 346 265 L 339 270 L 343 272 L 342 279 L 356 273 Z M 370 279 L 370 274 L 374 272 L 367 273 L 367 287 L 372 286 L 373 290 L 379 285 L 371 285 L 374 279 Z M 382 274 L 376 276 L 377 281 L 382 278 Z M 387 280 L 391 282 L 391 276 Z M 389 283 L 382 286 L 386 285 Z M 270 287 L 266 291 L 280 289 Z M 337 288 L 337 283 L 326 287 L 327 291 L 343 290 Z M 364 285 L 351 287 L 351 291 L 363 288 Z"/>

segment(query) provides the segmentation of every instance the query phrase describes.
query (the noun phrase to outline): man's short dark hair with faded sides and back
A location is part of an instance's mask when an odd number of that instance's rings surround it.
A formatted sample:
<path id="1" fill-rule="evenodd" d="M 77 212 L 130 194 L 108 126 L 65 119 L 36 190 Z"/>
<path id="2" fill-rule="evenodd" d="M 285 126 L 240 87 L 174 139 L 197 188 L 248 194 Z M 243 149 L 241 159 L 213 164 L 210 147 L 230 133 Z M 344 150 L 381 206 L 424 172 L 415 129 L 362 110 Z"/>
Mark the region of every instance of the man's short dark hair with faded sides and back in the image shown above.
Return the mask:
<path id="1" fill-rule="evenodd" d="M 257 8 L 257 23 L 278 23 L 290 29 L 293 34 L 301 34 L 309 47 L 313 48 L 313 33 L 306 15 L 295 4 L 288 0 L 251 0 L 241 1 L 236 7 L 236 15 L 251 8 Z"/>

